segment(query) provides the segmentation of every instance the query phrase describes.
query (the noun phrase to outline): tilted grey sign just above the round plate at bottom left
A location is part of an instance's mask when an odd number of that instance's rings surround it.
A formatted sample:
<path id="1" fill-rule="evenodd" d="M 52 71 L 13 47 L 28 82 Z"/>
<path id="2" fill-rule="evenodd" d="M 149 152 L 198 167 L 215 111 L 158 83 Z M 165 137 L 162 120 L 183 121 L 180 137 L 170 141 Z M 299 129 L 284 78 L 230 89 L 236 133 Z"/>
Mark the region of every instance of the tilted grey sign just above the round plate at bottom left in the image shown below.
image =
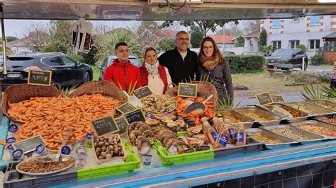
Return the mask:
<path id="1" fill-rule="evenodd" d="M 35 151 L 36 146 L 40 144 L 45 145 L 45 140 L 43 140 L 42 136 L 38 135 L 30 137 L 29 139 L 23 141 L 12 143 L 12 146 L 14 150 L 21 149 L 23 150 L 23 153 L 28 153 L 30 151 Z"/>

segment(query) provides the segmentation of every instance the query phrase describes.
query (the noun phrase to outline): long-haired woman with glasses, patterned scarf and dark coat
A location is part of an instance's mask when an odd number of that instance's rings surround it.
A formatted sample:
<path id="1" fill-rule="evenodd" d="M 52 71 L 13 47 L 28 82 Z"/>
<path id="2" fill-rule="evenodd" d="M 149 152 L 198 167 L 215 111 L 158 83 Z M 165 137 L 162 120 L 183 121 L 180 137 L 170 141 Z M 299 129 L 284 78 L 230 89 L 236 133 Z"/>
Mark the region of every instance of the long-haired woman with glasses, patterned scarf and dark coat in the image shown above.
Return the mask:
<path id="1" fill-rule="evenodd" d="M 207 74 L 215 81 L 218 97 L 222 101 L 233 100 L 233 83 L 230 66 L 220 53 L 215 41 L 211 37 L 205 37 L 198 53 L 198 71 L 202 77 Z"/>

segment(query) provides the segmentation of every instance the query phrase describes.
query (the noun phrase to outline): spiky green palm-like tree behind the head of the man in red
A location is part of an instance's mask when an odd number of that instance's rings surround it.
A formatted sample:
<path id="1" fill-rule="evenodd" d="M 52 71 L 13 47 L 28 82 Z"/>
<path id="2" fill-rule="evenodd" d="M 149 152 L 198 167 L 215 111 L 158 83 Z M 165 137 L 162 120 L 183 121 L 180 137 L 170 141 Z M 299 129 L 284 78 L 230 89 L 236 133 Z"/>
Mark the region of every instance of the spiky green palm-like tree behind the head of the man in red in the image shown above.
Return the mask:
<path id="1" fill-rule="evenodd" d="M 103 62 L 108 56 L 113 55 L 114 47 L 119 42 L 125 42 L 128 45 L 130 54 L 133 54 L 136 57 L 142 56 L 140 43 L 135 40 L 133 33 L 130 30 L 118 28 L 112 30 L 111 33 L 104 35 L 101 42 L 96 44 L 97 53 L 95 59 L 99 62 Z"/>

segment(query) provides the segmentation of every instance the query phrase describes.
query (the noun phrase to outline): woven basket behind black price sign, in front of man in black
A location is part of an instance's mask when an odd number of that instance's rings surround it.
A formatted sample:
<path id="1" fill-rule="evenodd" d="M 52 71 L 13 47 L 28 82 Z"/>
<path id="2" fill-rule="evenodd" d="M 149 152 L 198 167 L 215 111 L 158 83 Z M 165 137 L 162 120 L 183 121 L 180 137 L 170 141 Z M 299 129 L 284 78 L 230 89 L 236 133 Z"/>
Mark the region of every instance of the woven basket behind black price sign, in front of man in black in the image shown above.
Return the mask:
<path id="1" fill-rule="evenodd" d="M 211 98 L 211 102 L 213 102 L 214 105 L 214 110 L 217 112 L 217 105 L 218 105 L 218 93 L 217 90 L 215 89 L 215 86 L 213 84 L 208 83 L 208 82 L 203 82 L 203 81 L 194 81 L 190 82 L 193 84 L 196 84 L 198 86 L 197 88 L 197 96 L 204 98 L 208 98 L 211 94 L 213 95 L 213 98 Z M 166 91 L 166 95 L 169 96 L 177 96 L 177 91 L 179 90 L 179 86 L 174 86 L 173 88 L 168 88 Z"/>

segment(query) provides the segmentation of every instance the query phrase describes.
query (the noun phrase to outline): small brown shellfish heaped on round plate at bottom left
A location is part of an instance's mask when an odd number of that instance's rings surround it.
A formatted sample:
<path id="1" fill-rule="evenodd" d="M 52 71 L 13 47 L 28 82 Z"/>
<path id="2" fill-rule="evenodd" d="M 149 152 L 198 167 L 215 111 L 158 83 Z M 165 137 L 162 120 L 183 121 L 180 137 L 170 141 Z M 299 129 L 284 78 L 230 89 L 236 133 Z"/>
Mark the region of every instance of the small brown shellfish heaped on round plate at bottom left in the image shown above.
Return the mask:
<path id="1" fill-rule="evenodd" d="M 43 173 L 67 168 L 69 165 L 72 165 L 72 163 L 74 163 L 73 158 L 70 158 L 67 161 L 55 161 L 50 157 L 34 158 L 23 162 L 18 169 L 29 173 Z"/>

